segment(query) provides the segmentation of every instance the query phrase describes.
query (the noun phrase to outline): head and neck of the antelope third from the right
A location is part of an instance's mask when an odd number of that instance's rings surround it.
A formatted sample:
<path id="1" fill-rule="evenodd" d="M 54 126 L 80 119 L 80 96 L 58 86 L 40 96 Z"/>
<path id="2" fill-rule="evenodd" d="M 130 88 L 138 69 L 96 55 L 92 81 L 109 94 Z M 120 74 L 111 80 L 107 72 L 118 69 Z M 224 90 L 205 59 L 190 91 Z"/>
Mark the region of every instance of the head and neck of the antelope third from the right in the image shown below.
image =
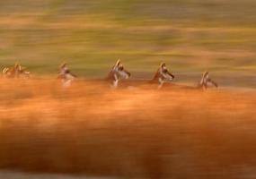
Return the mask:
<path id="1" fill-rule="evenodd" d="M 123 64 L 120 60 L 111 68 L 107 80 L 111 81 L 111 86 L 117 88 L 119 81 L 122 79 L 128 79 L 130 77 L 130 72 L 124 69 Z"/>

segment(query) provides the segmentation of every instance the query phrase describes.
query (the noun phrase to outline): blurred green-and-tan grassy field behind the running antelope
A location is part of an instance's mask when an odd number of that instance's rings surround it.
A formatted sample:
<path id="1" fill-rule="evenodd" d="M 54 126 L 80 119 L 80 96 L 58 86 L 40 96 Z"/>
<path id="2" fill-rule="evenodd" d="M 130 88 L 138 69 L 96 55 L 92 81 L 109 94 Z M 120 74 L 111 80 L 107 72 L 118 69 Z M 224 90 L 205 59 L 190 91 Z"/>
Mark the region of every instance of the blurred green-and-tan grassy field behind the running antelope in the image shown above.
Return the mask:
<path id="1" fill-rule="evenodd" d="M 10 0 L 0 2 L 0 66 L 54 73 L 63 61 L 102 77 L 118 58 L 151 77 L 175 72 L 256 72 L 253 0 Z M 140 77 L 140 76 L 138 76 Z"/>

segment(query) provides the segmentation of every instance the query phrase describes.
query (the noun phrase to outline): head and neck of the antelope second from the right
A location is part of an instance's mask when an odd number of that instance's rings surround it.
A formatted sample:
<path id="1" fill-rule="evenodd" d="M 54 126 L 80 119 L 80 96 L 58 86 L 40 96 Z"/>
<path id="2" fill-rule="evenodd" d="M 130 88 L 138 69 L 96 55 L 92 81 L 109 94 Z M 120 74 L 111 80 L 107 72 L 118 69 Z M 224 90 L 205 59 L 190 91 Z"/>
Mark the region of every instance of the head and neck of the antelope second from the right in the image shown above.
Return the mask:
<path id="1" fill-rule="evenodd" d="M 158 82 L 158 88 L 162 88 L 164 82 L 170 82 L 174 79 L 174 75 L 168 71 L 166 64 L 160 64 L 159 68 L 154 74 L 152 81 Z"/>

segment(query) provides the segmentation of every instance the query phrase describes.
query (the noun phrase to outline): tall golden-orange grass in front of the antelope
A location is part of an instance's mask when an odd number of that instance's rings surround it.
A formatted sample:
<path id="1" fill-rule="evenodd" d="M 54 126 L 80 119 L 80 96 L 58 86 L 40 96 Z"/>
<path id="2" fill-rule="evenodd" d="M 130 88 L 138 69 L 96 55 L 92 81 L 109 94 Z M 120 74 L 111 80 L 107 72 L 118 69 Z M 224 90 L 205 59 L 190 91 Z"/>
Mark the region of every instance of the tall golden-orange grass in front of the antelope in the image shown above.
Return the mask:
<path id="1" fill-rule="evenodd" d="M 0 167 L 128 178 L 256 176 L 255 92 L 0 79 Z"/>

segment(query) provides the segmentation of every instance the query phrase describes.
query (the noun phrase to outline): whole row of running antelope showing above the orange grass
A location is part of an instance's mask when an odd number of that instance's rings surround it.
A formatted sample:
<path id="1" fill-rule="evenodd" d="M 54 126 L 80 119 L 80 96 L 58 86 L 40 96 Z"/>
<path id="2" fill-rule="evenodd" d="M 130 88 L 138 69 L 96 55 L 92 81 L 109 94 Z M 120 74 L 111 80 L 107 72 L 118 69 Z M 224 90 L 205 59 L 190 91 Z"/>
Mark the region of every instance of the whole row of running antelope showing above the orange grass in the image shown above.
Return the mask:
<path id="1" fill-rule="evenodd" d="M 31 72 L 27 71 L 25 67 L 16 63 L 13 67 L 6 67 L 3 70 L 3 76 L 5 78 L 30 78 Z M 121 64 L 120 60 L 117 61 L 115 65 L 110 69 L 110 72 L 105 79 L 110 82 L 110 86 L 116 89 L 119 86 L 119 81 L 124 79 L 128 79 L 131 76 L 130 72 L 128 72 L 123 64 Z M 75 80 L 76 75 L 70 72 L 67 64 L 61 64 L 59 67 L 59 72 L 57 78 L 60 79 L 63 83 L 63 87 L 69 87 L 72 81 Z M 158 89 L 163 87 L 164 83 L 170 83 L 174 79 L 174 75 L 169 72 L 166 67 L 166 64 L 160 64 L 159 68 L 154 74 L 154 78 L 149 82 L 155 83 L 158 85 Z M 207 90 L 208 87 L 214 86 L 217 88 L 217 83 L 210 79 L 209 72 L 204 72 L 201 80 L 199 81 L 198 86 L 191 87 L 193 89 L 202 89 Z"/>

